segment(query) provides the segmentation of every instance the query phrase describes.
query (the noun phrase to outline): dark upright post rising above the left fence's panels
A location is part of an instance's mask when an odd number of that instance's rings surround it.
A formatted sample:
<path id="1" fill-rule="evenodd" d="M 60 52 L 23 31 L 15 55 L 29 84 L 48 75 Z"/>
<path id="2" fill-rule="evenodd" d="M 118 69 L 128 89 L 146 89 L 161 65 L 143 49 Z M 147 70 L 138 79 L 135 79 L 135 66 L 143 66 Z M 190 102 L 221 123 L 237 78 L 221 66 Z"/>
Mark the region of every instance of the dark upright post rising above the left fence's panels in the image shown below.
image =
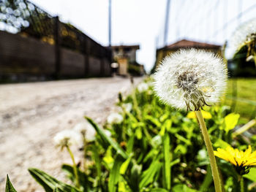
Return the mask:
<path id="1" fill-rule="evenodd" d="M 55 40 L 55 72 L 54 78 L 58 80 L 61 72 L 61 37 L 59 16 L 54 18 L 54 40 Z"/>

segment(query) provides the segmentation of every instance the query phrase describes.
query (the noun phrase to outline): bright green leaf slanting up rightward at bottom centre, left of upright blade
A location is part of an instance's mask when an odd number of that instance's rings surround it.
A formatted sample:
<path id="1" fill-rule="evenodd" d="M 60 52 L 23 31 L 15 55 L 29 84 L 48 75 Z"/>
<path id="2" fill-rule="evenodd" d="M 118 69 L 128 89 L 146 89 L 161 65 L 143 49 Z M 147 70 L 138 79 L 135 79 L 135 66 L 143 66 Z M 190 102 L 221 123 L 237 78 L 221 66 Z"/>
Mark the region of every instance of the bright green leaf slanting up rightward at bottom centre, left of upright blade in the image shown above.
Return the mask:
<path id="1" fill-rule="evenodd" d="M 140 189 L 143 187 L 146 187 L 149 183 L 152 183 L 154 181 L 154 176 L 157 174 L 159 169 L 161 168 L 162 163 L 160 163 L 158 160 L 154 161 L 146 171 L 142 174 L 142 179 L 140 181 Z"/>

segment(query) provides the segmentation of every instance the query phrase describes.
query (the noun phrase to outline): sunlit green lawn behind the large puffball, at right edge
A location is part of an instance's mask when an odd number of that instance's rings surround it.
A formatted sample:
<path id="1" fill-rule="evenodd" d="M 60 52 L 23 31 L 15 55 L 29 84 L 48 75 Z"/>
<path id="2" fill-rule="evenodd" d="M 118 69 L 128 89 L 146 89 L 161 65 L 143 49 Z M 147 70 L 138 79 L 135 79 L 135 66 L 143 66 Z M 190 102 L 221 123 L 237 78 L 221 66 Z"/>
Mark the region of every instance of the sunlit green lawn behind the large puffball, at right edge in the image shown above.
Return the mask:
<path id="1" fill-rule="evenodd" d="M 256 115 L 256 79 L 232 78 L 228 80 L 224 104 L 241 115 L 244 122 Z"/>

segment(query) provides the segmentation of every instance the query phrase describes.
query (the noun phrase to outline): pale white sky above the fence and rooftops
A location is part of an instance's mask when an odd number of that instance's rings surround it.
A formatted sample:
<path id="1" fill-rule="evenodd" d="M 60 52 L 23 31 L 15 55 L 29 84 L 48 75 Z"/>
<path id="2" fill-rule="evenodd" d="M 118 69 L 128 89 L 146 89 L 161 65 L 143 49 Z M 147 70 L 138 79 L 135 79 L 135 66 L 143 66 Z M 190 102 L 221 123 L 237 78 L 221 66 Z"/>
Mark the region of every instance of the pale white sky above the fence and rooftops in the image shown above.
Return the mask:
<path id="1" fill-rule="evenodd" d="M 31 0 L 108 45 L 108 0 Z M 154 66 L 163 47 L 167 0 L 112 0 L 112 45 L 140 45 L 139 64 Z M 255 0 L 170 0 L 167 45 L 180 39 L 223 45 L 233 31 L 256 17 Z M 240 17 L 238 14 L 243 12 Z"/>

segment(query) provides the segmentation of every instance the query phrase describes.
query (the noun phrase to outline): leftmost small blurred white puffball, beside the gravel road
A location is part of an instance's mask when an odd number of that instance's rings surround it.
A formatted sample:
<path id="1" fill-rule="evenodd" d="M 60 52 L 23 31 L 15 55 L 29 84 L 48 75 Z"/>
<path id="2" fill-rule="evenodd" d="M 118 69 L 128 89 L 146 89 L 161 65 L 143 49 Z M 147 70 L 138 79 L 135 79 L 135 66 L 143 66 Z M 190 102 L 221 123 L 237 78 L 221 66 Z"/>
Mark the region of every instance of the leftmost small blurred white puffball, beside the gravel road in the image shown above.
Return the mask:
<path id="1" fill-rule="evenodd" d="M 80 136 L 72 130 L 64 130 L 53 138 L 57 147 L 69 147 L 80 142 Z"/>

